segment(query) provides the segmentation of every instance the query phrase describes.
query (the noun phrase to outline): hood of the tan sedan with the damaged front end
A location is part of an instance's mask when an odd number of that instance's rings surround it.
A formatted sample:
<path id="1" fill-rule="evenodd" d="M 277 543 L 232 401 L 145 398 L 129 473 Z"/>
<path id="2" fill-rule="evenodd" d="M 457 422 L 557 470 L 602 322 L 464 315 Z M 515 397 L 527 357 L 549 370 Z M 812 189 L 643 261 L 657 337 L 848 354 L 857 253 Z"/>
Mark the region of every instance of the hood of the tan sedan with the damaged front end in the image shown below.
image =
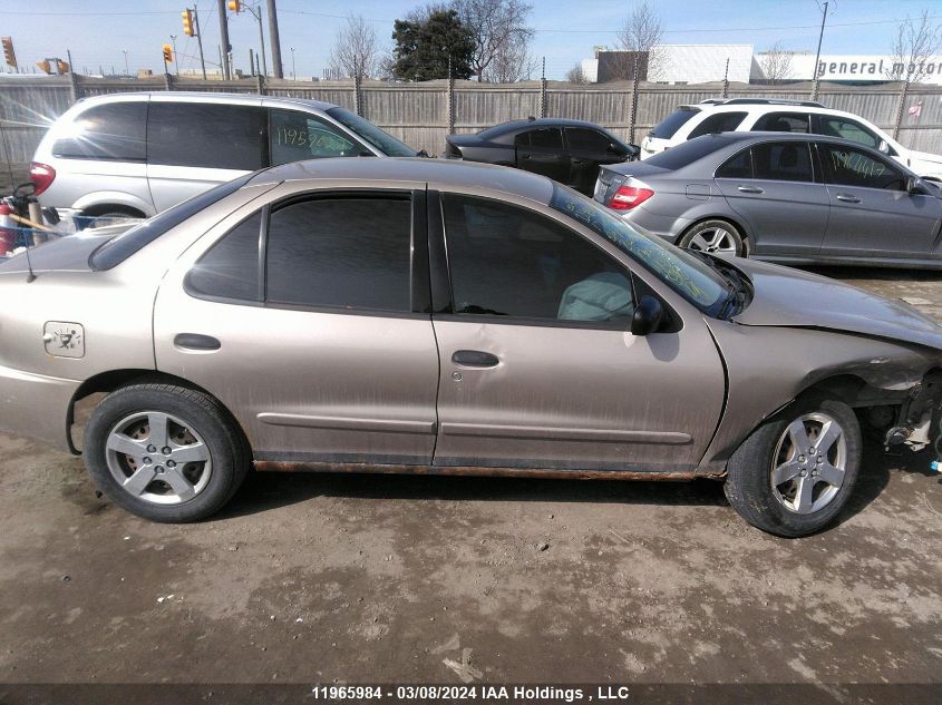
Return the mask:
<path id="1" fill-rule="evenodd" d="M 902 301 L 755 260 L 731 264 L 754 287 L 752 301 L 734 316 L 736 323 L 825 329 L 942 350 L 942 325 Z"/>

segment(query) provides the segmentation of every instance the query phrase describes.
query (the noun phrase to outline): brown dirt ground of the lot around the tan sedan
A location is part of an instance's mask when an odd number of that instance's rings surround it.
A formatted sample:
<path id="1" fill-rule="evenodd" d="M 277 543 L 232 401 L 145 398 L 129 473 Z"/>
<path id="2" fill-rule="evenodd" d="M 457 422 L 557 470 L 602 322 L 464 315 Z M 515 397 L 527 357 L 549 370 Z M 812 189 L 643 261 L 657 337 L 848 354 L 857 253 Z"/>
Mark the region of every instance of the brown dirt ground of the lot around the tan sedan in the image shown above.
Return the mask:
<path id="1" fill-rule="evenodd" d="M 942 319 L 942 275 L 826 273 Z M 256 474 L 162 526 L 0 437 L 0 684 L 460 683 L 446 659 L 491 683 L 939 684 L 930 460 L 868 447 L 841 523 L 803 540 L 707 481 Z"/>

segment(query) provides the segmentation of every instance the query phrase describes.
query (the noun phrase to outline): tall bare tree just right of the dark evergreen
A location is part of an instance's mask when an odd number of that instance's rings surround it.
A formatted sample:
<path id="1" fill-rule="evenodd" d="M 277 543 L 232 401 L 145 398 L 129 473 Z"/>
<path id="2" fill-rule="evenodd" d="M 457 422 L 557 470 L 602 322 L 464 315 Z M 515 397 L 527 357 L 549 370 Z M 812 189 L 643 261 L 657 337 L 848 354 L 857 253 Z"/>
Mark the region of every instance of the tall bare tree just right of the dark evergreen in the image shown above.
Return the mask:
<path id="1" fill-rule="evenodd" d="M 478 81 L 513 82 L 533 71 L 526 26 L 533 6 L 522 0 L 453 0 L 462 22 L 474 35 L 472 69 Z"/>

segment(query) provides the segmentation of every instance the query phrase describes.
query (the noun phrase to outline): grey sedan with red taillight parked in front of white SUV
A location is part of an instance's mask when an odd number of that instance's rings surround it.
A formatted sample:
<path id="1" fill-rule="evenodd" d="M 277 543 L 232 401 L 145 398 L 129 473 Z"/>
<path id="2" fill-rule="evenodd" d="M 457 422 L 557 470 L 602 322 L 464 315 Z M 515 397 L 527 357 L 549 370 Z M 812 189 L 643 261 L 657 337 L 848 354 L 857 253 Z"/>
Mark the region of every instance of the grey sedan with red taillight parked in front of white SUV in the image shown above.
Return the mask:
<path id="1" fill-rule="evenodd" d="M 605 167 L 595 199 L 671 243 L 709 253 L 942 267 L 939 187 L 845 139 L 706 135 Z"/>

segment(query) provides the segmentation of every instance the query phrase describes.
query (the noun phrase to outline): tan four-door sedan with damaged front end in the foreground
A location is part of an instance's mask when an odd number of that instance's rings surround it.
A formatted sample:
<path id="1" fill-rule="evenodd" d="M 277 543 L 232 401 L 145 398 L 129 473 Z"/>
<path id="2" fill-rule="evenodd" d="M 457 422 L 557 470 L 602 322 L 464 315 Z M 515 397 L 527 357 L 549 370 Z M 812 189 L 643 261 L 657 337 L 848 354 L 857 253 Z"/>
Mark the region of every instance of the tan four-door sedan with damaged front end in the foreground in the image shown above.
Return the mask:
<path id="1" fill-rule="evenodd" d="M 847 501 L 862 422 L 922 448 L 942 400 L 942 329 L 904 304 L 487 165 L 274 167 L 3 262 L 0 295 L 0 428 L 80 445 L 156 521 L 254 466 L 716 478 L 803 536 Z"/>

